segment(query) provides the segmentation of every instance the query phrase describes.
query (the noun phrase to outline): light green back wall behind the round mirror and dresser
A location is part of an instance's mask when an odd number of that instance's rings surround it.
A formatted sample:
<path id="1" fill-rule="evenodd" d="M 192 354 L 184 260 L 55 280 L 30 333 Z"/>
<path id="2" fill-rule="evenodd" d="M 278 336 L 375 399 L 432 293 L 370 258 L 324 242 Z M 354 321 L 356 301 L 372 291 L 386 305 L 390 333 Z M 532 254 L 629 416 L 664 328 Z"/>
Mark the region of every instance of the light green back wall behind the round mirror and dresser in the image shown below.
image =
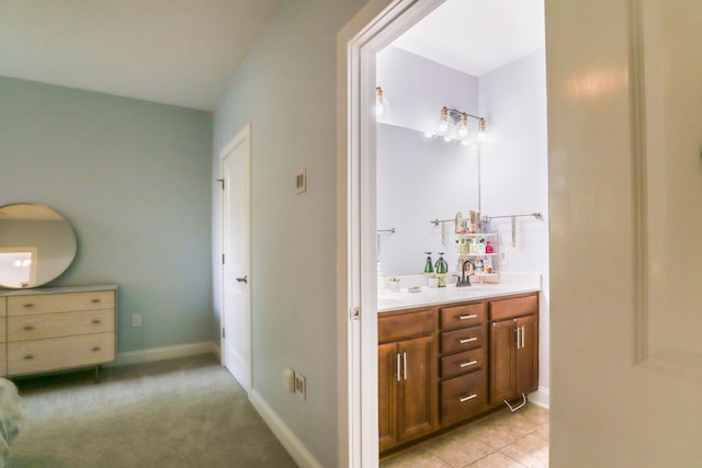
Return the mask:
<path id="1" fill-rule="evenodd" d="M 117 284 L 118 352 L 213 340 L 211 155 L 206 113 L 0 77 L 0 205 L 73 225 L 50 285 Z"/>

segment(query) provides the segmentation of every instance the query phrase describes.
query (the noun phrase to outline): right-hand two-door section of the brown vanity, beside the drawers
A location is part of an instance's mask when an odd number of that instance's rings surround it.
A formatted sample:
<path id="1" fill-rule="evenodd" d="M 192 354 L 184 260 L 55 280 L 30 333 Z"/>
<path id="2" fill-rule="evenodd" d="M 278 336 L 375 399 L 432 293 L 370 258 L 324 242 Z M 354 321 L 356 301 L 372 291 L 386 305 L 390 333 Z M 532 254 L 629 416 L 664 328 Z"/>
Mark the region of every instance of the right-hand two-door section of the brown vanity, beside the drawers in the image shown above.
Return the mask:
<path id="1" fill-rule="evenodd" d="M 511 401 L 539 387 L 539 295 L 488 303 L 490 404 Z"/>

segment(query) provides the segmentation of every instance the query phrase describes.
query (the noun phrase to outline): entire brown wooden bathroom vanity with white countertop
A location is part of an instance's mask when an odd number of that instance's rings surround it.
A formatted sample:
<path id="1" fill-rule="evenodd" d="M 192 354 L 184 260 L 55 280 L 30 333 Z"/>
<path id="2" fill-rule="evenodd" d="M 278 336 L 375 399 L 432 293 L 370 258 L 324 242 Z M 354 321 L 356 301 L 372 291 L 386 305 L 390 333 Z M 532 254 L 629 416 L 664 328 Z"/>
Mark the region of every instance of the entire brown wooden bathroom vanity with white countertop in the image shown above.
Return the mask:
<path id="1" fill-rule="evenodd" d="M 378 426 L 384 453 L 539 385 L 539 288 L 480 285 L 378 296 Z"/>

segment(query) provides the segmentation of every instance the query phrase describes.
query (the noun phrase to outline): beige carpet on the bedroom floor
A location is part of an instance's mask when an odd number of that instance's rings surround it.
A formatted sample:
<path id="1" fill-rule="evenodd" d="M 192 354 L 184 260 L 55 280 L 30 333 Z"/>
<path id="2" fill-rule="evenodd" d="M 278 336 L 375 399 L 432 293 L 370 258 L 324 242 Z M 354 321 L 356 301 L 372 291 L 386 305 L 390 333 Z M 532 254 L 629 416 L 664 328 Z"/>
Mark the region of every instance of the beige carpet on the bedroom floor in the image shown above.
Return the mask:
<path id="1" fill-rule="evenodd" d="M 15 380 L 8 467 L 295 467 L 213 356 Z"/>

